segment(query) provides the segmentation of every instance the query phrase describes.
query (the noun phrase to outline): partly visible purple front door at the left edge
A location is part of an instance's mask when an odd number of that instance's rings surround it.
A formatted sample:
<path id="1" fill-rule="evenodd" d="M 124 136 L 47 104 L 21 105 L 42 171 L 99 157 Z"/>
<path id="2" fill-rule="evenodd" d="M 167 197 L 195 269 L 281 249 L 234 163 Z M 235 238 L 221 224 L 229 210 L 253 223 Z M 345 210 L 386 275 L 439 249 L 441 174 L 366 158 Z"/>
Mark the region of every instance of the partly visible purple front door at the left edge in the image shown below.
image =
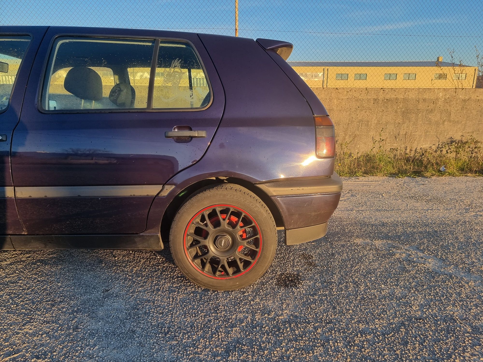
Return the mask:
<path id="1" fill-rule="evenodd" d="M 0 235 L 25 233 L 15 208 L 10 147 L 30 68 L 46 29 L 0 27 Z"/>

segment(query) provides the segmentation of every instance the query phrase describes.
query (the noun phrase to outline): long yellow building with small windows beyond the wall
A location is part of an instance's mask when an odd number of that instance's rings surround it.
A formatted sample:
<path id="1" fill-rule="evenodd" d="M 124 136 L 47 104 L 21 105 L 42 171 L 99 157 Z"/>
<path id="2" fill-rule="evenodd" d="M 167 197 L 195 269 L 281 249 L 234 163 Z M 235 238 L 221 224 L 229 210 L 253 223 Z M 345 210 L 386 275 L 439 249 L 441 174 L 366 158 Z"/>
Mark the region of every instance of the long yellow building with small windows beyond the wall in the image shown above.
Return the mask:
<path id="1" fill-rule="evenodd" d="M 311 87 L 475 88 L 477 67 L 443 62 L 288 62 Z"/>

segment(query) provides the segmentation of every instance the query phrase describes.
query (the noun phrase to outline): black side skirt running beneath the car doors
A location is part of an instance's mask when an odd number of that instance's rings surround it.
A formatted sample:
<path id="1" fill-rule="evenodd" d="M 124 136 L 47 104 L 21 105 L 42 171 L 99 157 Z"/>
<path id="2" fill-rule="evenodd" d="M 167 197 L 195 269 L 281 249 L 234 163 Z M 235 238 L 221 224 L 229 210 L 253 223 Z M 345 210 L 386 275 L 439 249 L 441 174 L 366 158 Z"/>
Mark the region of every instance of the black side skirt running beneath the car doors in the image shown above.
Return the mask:
<path id="1" fill-rule="evenodd" d="M 163 248 L 160 234 L 0 235 L 0 250 L 162 250 Z"/>

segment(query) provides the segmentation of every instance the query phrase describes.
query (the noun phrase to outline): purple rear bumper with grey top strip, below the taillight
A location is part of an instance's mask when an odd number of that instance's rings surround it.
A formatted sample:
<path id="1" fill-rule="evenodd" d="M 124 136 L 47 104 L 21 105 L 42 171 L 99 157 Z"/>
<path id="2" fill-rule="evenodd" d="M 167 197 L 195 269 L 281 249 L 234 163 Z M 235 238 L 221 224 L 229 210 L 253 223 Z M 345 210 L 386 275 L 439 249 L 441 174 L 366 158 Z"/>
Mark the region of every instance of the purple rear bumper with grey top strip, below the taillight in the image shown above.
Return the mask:
<path id="1" fill-rule="evenodd" d="M 287 245 L 323 237 L 327 220 L 339 205 L 342 180 L 334 173 L 323 178 L 258 183 L 280 210 Z"/>

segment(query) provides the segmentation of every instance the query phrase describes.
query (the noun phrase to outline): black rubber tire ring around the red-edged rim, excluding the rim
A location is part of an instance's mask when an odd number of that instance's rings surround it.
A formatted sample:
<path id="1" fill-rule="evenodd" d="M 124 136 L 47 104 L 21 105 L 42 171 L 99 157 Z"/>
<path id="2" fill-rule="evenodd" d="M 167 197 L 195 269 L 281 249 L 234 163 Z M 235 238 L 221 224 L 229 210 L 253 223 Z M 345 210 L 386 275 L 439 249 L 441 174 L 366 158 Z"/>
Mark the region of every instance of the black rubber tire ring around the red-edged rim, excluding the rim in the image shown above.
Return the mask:
<path id="1" fill-rule="evenodd" d="M 275 256 L 277 237 L 270 211 L 267 209 L 267 212 L 264 209 L 266 206 L 261 201 L 257 201 L 257 198 L 246 195 L 240 189 L 237 188 L 234 192 L 214 188 L 208 190 L 209 192 L 195 195 L 182 206 L 171 226 L 170 247 L 176 264 L 188 279 L 205 288 L 227 290 L 249 285 L 265 274 Z M 248 190 L 246 192 L 249 193 Z M 191 265 L 185 254 L 184 237 L 188 223 L 200 210 L 214 205 L 231 205 L 242 209 L 253 217 L 260 228 L 262 239 L 260 255 L 256 264 L 239 277 L 215 279 L 205 276 Z"/>

